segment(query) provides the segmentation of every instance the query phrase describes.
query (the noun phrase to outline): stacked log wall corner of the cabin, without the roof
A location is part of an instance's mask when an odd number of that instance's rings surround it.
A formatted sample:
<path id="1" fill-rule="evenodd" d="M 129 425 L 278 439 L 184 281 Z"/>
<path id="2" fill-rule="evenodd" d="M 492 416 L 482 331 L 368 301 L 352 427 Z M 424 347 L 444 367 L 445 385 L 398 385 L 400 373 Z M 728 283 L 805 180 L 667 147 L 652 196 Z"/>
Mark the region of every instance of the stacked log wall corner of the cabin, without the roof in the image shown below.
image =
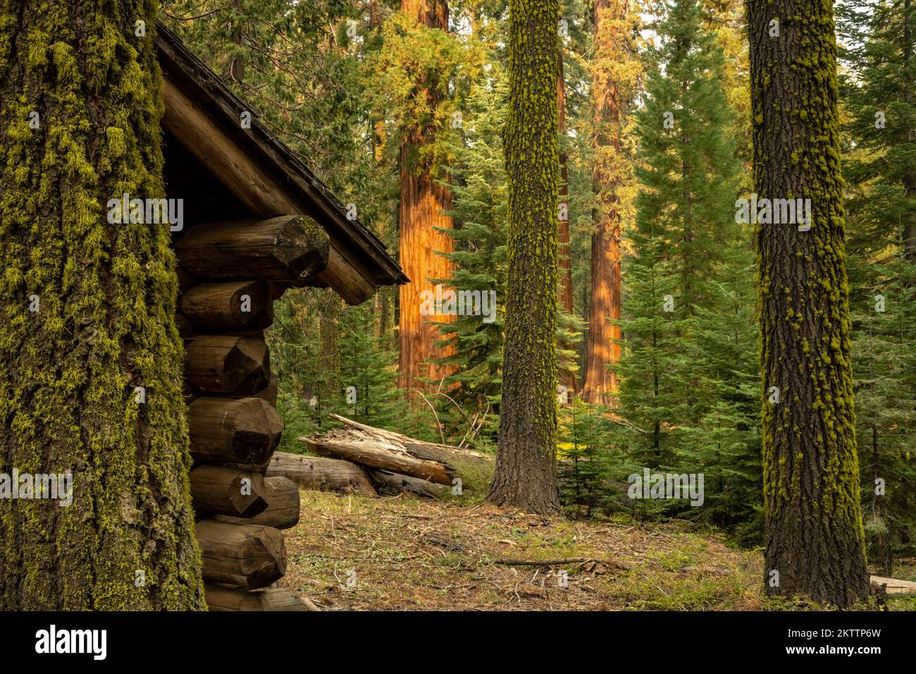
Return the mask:
<path id="1" fill-rule="evenodd" d="M 289 592 L 249 591 L 286 572 L 281 529 L 299 522 L 299 489 L 264 477 L 283 431 L 264 329 L 283 292 L 277 281 L 321 262 L 321 239 L 304 228 L 298 216 L 202 223 L 174 243 L 191 500 L 211 610 L 300 608 Z"/>

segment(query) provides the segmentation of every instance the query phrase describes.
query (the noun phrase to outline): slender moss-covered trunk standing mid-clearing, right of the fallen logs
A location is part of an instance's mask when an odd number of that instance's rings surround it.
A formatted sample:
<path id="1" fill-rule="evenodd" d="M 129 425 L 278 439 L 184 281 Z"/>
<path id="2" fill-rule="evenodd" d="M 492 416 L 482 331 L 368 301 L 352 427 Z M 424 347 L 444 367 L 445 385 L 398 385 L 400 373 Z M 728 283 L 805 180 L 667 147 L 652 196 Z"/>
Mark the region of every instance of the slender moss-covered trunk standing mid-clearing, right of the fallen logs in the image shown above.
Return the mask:
<path id="1" fill-rule="evenodd" d="M 556 452 L 557 0 L 509 4 L 508 280 L 499 455 L 487 500 L 560 508 Z"/>

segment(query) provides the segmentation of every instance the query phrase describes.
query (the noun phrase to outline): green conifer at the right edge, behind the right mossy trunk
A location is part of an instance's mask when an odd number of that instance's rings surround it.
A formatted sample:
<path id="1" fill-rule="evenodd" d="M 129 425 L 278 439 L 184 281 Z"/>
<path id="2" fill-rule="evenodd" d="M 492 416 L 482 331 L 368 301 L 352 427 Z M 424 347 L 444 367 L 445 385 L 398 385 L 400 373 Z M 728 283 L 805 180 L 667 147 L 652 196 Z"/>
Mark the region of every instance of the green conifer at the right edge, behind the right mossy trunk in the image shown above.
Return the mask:
<path id="1" fill-rule="evenodd" d="M 869 558 L 890 575 L 916 546 L 916 7 L 852 0 L 838 21 L 856 444 Z"/>

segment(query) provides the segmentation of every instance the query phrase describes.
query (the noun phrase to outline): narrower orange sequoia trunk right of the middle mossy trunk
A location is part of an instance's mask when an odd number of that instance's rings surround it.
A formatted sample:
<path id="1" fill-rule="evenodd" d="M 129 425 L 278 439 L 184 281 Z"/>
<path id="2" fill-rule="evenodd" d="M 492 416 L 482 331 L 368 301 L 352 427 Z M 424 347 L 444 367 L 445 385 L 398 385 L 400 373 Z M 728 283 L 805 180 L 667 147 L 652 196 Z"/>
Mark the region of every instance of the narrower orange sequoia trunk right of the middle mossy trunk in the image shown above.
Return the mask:
<path id="1" fill-rule="evenodd" d="M 616 10 L 620 16 L 612 12 Z M 602 21 L 623 18 L 626 3 L 596 0 L 594 5 L 594 32 L 599 50 L 610 50 L 605 39 L 614 37 L 615 31 L 602 30 Z M 585 361 L 585 382 L 582 398 L 586 403 L 615 404 L 618 390 L 616 373 L 608 366 L 620 361 L 620 326 L 611 321 L 620 319 L 620 215 L 619 198 L 613 160 L 603 148 L 611 149 L 613 157 L 620 154 L 620 89 L 613 80 L 595 83 L 594 87 L 595 137 L 598 160 L 594 168 L 594 189 L 599 204 L 595 209 L 595 231 L 592 235 L 592 300 L 589 309 L 588 342 Z M 610 138 L 605 129 L 611 129 Z"/>

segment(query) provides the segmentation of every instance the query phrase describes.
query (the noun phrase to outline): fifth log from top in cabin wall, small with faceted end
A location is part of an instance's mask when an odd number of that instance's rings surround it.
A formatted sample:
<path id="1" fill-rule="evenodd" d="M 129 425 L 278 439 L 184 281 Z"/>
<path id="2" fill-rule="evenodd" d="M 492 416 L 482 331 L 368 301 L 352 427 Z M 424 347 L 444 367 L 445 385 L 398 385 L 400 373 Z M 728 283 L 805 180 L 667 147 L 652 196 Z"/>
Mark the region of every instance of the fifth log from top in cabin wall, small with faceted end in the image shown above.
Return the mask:
<path id="1" fill-rule="evenodd" d="M 267 508 L 267 495 L 264 477 L 259 472 L 225 466 L 199 466 L 191 470 L 191 502 L 197 514 L 254 517 Z"/>

